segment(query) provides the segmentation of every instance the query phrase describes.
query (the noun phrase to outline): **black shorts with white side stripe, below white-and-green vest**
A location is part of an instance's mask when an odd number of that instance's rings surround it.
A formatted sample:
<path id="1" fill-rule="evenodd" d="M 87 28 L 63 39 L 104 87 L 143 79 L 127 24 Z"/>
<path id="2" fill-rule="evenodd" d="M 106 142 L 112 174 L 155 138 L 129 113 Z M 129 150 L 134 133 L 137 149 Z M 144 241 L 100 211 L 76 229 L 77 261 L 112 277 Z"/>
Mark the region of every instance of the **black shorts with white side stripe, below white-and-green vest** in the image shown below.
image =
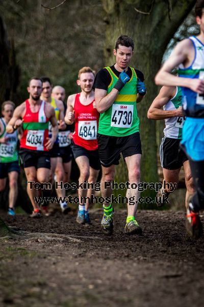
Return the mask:
<path id="1" fill-rule="evenodd" d="M 188 160 L 180 147 L 181 140 L 164 137 L 160 145 L 160 160 L 163 168 L 179 169 Z"/>

